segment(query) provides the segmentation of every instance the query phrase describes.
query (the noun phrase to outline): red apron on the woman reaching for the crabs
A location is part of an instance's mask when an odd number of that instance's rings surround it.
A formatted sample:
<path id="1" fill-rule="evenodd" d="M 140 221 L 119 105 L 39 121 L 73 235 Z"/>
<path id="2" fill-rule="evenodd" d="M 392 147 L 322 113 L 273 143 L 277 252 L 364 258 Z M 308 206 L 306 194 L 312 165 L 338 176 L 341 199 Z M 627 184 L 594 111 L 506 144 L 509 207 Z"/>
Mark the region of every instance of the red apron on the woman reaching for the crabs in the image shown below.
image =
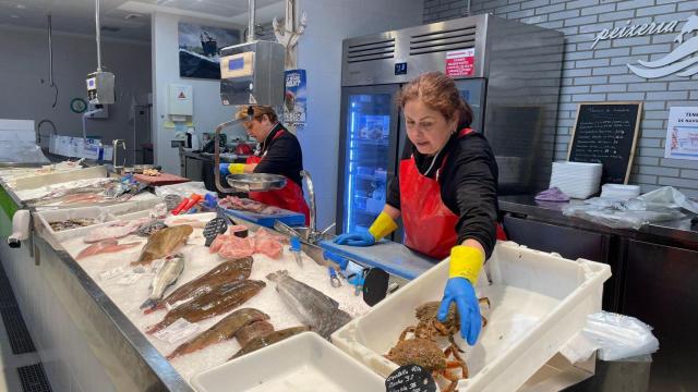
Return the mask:
<path id="1" fill-rule="evenodd" d="M 458 137 L 473 132 L 461 130 Z M 447 157 L 446 157 L 447 158 Z M 444 259 L 450 255 L 450 248 L 456 246 L 458 235 L 455 215 L 441 198 L 438 175 L 444 167 L 430 179 L 417 169 L 414 157 L 400 161 L 400 211 L 405 226 L 405 245 L 436 259 Z M 502 226 L 497 223 L 497 240 L 506 240 Z"/>

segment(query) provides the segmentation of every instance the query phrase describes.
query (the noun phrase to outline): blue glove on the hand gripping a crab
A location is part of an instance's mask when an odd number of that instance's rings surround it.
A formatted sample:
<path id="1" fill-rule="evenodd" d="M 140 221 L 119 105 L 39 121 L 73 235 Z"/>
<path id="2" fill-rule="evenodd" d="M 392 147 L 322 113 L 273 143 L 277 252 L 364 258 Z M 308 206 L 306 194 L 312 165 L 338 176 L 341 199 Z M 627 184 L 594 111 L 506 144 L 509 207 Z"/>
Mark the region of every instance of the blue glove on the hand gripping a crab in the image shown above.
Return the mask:
<path id="1" fill-rule="evenodd" d="M 445 321 L 448 316 L 448 308 L 452 302 L 456 302 L 460 316 L 460 335 L 470 345 L 474 345 L 482 329 L 482 317 L 480 316 L 480 305 L 476 296 L 472 283 L 465 278 L 450 278 L 446 282 L 444 298 L 438 307 L 436 318 Z"/>

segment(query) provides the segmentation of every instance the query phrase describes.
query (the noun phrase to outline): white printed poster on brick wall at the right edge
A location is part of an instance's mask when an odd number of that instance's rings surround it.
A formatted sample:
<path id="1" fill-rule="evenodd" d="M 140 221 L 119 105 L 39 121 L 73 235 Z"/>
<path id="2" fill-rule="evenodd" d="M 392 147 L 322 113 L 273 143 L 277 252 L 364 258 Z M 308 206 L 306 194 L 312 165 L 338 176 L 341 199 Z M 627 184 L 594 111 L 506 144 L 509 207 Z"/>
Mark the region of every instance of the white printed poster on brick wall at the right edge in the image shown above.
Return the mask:
<path id="1" fill-rule="evenodd" d="M 671 108 L 664 158 L 698 160 L 698 108 Z"/>

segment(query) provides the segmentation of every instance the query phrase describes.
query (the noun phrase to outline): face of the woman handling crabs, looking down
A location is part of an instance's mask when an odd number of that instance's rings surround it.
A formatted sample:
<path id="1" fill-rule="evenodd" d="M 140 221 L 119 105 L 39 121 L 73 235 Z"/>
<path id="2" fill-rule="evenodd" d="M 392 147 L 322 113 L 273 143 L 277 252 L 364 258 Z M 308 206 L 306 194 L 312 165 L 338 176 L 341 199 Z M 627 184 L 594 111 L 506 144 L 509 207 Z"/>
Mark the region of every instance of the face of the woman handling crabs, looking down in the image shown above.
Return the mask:
<path id="1" fill-rule="evenodd" d="M 420 154 L 438 152 L 456 130 L 456 123 L 457 119 L 447 121 L 441 112 L 426 107 L 419 98 L 405 103 L 407 137 Z"/>

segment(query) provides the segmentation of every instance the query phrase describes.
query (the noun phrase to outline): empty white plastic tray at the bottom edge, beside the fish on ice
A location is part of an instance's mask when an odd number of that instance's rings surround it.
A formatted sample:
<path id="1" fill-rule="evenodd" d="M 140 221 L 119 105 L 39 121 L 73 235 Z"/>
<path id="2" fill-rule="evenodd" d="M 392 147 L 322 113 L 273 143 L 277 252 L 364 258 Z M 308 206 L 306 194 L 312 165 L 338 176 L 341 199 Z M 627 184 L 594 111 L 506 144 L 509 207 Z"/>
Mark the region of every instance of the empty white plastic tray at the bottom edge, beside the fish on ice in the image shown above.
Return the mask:
<path id="1" fill-rule="evenodd" d="M 385 390 L 381 377 L 315 332 L 300 333 L 201 372 L 191 383 L 198 392 Z"/>

